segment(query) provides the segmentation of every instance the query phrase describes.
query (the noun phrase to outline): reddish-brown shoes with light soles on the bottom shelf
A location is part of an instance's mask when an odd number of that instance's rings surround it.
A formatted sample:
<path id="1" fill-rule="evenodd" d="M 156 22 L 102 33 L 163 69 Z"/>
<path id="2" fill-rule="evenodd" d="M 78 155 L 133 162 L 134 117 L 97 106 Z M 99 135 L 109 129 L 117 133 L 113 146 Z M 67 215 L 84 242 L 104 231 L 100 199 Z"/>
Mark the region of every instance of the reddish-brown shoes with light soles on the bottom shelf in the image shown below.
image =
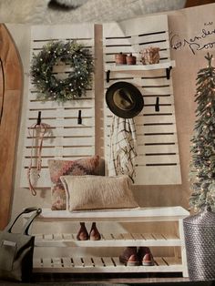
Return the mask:
<path id="1" fill-rule="evenodd" d="M 148 247 L 128 247 L 119 256 L 119 261 L 127 266 L 153 266 L 155 264 Z"/>

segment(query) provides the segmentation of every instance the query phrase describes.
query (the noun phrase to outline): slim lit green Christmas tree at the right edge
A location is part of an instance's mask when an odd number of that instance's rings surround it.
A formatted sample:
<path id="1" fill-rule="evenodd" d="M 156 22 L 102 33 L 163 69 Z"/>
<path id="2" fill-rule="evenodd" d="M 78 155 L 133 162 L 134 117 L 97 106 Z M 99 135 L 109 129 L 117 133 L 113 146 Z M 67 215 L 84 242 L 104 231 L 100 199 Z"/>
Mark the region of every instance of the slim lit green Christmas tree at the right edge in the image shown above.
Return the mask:
<path id="1" fill-rule="evenodd" d="M 208 66 L 200 69 L 197 77 L 197 119 L 190 148 L 189 205 L 195 210 L 206 206 L 215 210 L 215 68 L 209 53 L 205 58 Z"/>

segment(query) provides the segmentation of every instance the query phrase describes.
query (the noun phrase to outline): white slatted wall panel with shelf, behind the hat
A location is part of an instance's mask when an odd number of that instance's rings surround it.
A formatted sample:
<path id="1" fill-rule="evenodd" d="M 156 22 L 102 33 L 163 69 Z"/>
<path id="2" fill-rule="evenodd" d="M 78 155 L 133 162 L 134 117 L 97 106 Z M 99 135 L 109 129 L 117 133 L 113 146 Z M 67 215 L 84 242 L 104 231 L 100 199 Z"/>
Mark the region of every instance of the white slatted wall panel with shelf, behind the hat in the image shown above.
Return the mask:
<path id="1" fill-rule="evenodd" d="M 141 91 L 145 106 L 135 117 L 138 141 L 138 158 L 135 179 L 137 185 L 180 184 L 179 146 L 176 129 L 175 107 L 171 77 L 167 79 L 169 66 L 169 31 L 167 15 L 155 15 L 131 19 L 119 24 L 104 26 L 103 33 L 104 65 L 110 70 L 107 87 L 117 81 L 132 83 Z M 148 46 L 159 46 L 160 66 L 156 69 L 141 70 L 139 52 Z M 137 66 L 116 68 L 115 54 L 120 52 L 137 56 Z M 174 63 L 173 63 L 174 64 Z M 113 70 L 111 71 L 111 66 Z M 172 65 L 173 66 L 173 65 Z M 133 70 L 131 70 L 133 68 Z M 159 97 L 159 112 L 155 111 L 156 98 Z M 106 158 L 108 156 L 109 131 L 112 113 L 105 104 Z"/>

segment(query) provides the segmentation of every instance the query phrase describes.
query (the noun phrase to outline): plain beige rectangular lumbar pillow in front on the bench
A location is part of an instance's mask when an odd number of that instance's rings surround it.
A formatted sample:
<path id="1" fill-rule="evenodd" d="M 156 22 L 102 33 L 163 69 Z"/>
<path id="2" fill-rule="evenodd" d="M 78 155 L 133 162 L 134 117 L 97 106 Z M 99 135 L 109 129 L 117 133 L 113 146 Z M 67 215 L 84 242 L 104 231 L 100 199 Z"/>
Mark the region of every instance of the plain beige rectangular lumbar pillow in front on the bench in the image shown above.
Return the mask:
<path id="1" fill-rule="evenodd" d="M 67 192 L 67 209 L 131 209 L 133 197 L 128 176 L 62 176 Z"/>

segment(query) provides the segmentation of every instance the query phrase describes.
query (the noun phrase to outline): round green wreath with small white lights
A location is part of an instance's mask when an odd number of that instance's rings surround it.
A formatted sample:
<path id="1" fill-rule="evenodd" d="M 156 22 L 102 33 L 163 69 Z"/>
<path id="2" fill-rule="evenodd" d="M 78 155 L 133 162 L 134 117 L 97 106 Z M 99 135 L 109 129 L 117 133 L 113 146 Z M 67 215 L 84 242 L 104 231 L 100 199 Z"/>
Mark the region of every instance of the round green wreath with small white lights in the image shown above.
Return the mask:
<path id="1" fill-rule="evenodd" d="M 53 66 L 60 62 L 72 68 L 65 79 L 56 78 Z M 82 97 L 91 87 L 93 58 L 89 50 L 75 41 L 52 41 L 33 55 L 30 74 L 40 100 L 67 100 Z"/>

